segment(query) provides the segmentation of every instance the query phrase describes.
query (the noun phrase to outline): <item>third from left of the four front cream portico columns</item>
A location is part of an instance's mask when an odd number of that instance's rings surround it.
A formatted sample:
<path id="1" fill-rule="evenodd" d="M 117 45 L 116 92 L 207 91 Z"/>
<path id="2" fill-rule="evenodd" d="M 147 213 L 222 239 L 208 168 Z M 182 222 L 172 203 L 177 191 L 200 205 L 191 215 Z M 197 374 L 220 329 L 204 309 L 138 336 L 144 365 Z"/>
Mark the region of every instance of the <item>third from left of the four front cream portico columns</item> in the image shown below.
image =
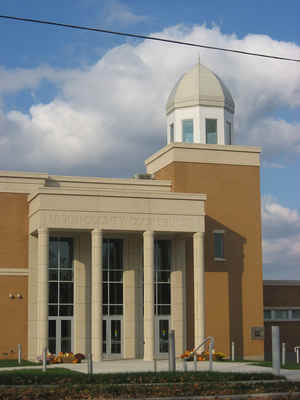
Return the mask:
<path id="1" fill-rule="evenodd" d="M 154 356 L 154 233 L 144 232 L 144 360 Z"/>

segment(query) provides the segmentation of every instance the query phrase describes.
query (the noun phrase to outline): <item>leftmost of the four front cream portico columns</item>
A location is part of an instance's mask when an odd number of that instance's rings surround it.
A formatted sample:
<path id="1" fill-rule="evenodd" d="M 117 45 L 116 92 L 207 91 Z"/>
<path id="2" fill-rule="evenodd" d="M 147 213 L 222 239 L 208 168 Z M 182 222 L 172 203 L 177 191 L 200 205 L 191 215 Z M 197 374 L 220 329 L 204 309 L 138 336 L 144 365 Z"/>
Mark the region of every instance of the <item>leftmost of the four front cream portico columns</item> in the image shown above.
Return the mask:
<path id="1" fill-rule="evenodd" d="M 48 263 L 49 233 L 47 228 L 38 229 L 37 274 L 37 354 L 48 348 Z"/>

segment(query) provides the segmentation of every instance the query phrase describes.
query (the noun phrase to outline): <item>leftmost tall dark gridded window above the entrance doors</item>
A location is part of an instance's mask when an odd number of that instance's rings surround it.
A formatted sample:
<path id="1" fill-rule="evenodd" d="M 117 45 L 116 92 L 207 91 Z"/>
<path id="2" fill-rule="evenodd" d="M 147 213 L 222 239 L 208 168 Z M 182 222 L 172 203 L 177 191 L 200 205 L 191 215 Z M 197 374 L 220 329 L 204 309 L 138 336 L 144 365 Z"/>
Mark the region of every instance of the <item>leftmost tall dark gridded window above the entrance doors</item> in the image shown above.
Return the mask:
<path id="1" fill-rule="evenodd" d="M 49 317 L 73 315 L 73 239 L 49 242 Z"/>

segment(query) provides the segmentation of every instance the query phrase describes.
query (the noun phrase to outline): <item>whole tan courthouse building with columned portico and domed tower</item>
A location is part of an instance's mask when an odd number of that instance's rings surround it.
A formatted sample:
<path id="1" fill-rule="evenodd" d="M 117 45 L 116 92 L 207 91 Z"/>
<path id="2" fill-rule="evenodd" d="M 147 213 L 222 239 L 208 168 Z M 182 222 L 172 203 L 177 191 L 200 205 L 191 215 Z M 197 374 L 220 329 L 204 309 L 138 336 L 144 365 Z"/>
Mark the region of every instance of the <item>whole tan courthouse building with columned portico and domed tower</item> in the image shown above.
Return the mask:
<path id="1" fill-rule="evenodd" d="M 0 172 L 0 357 L 264 354 L 260 149 L 197 64 L 170 93 L 167 145 L 132 179 Z M 1 148 L 0 148 L 1 151 Z M 99 171 L 101 174 L 101 171 Z"/>

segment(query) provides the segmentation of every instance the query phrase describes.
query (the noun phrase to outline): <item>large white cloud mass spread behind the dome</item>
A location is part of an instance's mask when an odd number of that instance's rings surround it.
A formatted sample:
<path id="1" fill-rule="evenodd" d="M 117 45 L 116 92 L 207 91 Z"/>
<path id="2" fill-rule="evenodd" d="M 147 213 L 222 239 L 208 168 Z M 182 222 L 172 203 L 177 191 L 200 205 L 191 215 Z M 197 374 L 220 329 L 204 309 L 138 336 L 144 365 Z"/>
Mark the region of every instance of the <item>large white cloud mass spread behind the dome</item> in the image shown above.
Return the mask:
<path id="1" fill-rule="evenodd" d="M 300 47 L 293 43 L 263 35 L 238 38 L 217 27 L 175 26 L 155 35 L 300 58 Z M 300 107 L 298 65 L 200 52 L 201 61 L 222 77 L 235 99 L 235 143 L 262 146 L 270 163 L 296 157 L 300 122 L 278 119 L 276 111 Z M 197 62 L 198 53 L 142 41 L 113 48 L 94 65 L 77 70 L 1 68 L 0 95 L 34 91 L 43 80 L 55 84 L 58 94 L 48 104 L 33 104 L 28 113 L 2 110 L 0 168 L 84 170 L 101 176 L 143 170 L 144 158 L 166 140 L 166 98 L 178 77 Z"/>

